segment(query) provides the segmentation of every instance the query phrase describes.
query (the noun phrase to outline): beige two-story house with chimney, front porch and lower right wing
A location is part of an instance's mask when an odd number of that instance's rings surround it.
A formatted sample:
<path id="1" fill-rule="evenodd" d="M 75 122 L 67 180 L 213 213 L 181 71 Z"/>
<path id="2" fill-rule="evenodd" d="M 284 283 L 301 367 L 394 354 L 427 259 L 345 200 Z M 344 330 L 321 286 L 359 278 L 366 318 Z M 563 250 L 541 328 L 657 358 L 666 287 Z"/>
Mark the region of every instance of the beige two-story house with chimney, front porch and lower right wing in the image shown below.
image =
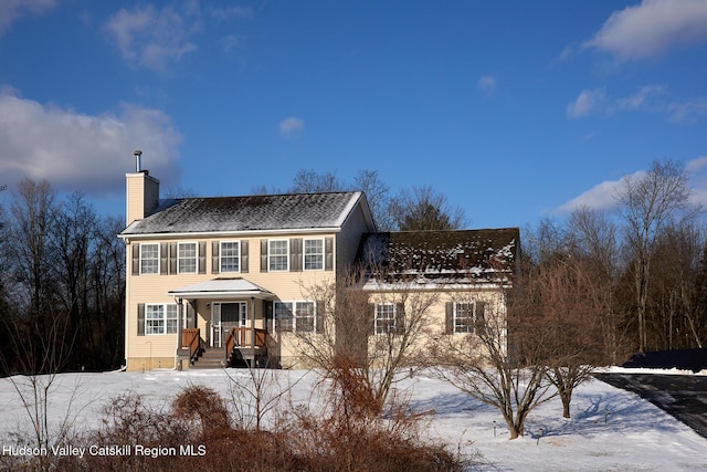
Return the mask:
<path id="1" fill-rule="evenodd" d="M 414 290 L 445 291 L 430 314 L 441 333 L 473 333 L 489 300 L 481 292 L 508 285 L 516 266 L 517 229 L 377 233 L 362 192 L 160 200 L 159 181 L 139 166 L 126 179 L 127 227 L 118 237 L 128 370 L 186 369 L 210 357 L 298 366 L 295 334 L 325 324 L 305 289 L 344 280 L 374 258 L 389 274 L 419 272 L 426 282 Z M 502 260 L 502 270 L 488 265 Z M 365 284 L 381 298 L 373 336 L 397 319 L 382 297 L 395 285 L 379 275 L 369 271 Z"/>

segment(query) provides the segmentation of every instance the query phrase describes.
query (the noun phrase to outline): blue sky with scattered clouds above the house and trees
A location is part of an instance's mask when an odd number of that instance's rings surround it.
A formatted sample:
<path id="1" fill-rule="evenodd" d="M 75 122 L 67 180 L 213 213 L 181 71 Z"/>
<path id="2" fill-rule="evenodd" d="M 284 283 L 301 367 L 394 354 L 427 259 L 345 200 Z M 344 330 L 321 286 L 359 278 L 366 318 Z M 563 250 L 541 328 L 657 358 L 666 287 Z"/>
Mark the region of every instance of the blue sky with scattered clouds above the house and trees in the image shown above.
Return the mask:
<path id="1" fill-rule="evenodd" d="M 656 159 L 707 202 L 706 125 L 705 0 L 0 2 L 0 183 L 108 214 L 135 149 L 201 196 L 377 170 L 469 228 L 610 209 Z"/>

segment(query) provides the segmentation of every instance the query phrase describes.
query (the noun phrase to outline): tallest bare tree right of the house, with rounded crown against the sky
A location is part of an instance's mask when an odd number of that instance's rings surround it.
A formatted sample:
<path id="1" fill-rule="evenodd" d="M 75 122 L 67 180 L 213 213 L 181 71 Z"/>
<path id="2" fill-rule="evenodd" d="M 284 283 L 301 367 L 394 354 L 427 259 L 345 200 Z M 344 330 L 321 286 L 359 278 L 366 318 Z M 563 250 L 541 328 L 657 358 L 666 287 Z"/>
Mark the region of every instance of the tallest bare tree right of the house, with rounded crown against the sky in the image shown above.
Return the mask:
<path id="1" fill-rule="evenodd" d="M 645 174 L 627 177 L 615 195 L 626 223 L 627 249 L 634 261 L 640 352 L 647 347 L 646 302 L 651 281 L 651 250 L 666 225 L 694 218 L 701 211 L 690 203 L 690 193 L 684 166 L 668 160 L 654 161 Z"/>

